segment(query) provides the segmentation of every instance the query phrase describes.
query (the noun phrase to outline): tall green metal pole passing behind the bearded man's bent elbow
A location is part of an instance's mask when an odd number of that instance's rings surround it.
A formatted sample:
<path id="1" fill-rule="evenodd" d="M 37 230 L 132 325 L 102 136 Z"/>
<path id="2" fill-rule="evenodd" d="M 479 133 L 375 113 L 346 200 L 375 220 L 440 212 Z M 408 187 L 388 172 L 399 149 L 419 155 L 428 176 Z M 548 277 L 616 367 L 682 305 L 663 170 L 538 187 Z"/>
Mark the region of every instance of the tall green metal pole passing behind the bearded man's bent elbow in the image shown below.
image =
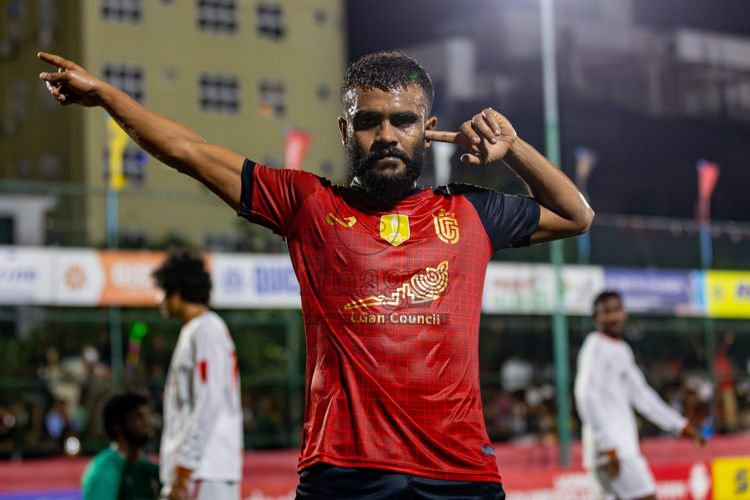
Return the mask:
<path id="1" fill-rule="evenodd" d="M 557 76 L 555 48 L 554 1 L 540 0 L 541 70 L 544 83 L 544 137 L 547 159 L 560 166 L 559 112 L 557 105 Z M 550 244 L 550 262 L 555 270 L 555 313 L 552 334 L 557 394 L 557 430 L 559 433 L 559 461 L 570 463 L 570 367 L 568 366 L 568 317 L 562 310 L 562 241 Z"/>

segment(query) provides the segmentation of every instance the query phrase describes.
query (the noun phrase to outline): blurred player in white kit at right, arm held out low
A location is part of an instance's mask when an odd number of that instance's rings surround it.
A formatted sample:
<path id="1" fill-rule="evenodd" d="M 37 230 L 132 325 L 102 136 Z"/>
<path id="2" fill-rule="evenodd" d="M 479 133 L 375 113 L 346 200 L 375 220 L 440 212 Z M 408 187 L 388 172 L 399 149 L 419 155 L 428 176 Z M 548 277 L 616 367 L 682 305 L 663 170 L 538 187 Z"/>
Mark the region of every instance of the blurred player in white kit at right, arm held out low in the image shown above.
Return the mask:
<path id="1" fill-rule="evenodd" d="M 616 292 L 594 301 L 594 326 L 578 353 L 575 402 L 583 424 L 583 467 L 595 493 L 605 500 L 653 500 L 654 478 L 640 454 L 634 410 L 661 429 L 692 439 L 703 438 L 688 419 L 664 403 L 635 364 L 622 340 L 627 315 Z"/>

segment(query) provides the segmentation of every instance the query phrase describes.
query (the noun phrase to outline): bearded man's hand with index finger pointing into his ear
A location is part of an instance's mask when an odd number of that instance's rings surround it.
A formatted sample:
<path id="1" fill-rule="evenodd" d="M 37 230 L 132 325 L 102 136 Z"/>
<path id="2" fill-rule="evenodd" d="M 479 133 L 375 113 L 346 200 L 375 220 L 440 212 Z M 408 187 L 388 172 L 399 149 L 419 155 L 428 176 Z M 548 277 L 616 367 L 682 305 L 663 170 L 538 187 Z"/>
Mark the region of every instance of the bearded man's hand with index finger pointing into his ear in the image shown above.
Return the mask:
<path id="1" fill-rule="evenodd" d="M 425 130 L 425 139 L 462 145 L 472 154 L 464 154 L 466 165 L 487 165 L 502 160 L 516 138 L 515 130 L 505 116 L 487 108 L 469 121 L 463 122 L 458 132 Z"/>

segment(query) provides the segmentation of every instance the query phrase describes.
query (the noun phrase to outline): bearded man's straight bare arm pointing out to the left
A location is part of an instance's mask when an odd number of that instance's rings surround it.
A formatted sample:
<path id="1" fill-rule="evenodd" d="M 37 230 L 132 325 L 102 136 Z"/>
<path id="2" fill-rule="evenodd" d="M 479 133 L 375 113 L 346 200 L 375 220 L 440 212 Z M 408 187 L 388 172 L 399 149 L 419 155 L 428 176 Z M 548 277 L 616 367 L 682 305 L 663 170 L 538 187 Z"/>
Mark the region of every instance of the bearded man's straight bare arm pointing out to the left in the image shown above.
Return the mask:
<path id="1" fill-rule="evenodd" d="M 239 210 L 244 157 L 205 142 L 193 130 L 145 109 L 73 61 L 45 52 L 39 52 L 39 58 L 57 68 L 56 73 L 41 73 L 39 77 L 48 82 L 59 103 L 103 107 L 151 156 L 202 182 L 227 205 Z"/>

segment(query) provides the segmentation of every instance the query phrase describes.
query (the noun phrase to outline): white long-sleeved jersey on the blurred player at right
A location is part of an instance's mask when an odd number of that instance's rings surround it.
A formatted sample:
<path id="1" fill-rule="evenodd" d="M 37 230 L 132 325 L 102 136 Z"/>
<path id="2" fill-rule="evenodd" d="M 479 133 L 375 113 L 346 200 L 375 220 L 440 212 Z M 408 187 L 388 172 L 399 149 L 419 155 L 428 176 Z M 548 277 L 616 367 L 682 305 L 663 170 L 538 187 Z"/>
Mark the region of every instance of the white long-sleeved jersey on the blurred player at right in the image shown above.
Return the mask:
<path id="1" fill-rule="evenodd" d="M 634 411 L 671 433 L 688 420 L 679 415 L 646 382 L 624 340 L 594 331 L 578 353 L 575 402 L 583 424 L 583 466 L 591 469 L 598 455 L 615 450 L 618 457 L 640 455 Z"/>

